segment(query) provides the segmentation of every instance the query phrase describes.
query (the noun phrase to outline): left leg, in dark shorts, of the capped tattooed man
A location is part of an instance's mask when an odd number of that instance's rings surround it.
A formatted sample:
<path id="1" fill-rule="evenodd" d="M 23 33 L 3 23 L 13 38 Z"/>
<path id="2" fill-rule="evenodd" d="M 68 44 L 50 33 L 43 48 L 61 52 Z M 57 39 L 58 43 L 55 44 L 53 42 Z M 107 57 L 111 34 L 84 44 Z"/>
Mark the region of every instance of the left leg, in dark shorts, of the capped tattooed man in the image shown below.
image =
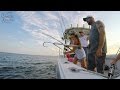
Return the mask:
<path id="1" fill-rule="evenodd" d="M 96 67 L 95 63 L 95 55 L 93 53 L 88 54 L 88 66 L 87 69 L 94 71 L 94 68 Z"/>

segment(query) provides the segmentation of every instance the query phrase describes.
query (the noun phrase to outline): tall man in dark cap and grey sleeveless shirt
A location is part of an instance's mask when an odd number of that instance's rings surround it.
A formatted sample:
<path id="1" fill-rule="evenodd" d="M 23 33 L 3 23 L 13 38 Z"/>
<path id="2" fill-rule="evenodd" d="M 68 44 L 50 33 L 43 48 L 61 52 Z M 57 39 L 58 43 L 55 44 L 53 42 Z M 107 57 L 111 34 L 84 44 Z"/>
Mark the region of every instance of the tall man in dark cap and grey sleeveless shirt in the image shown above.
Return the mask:
<path id="1" fill-rule="evenodd" d="M 96 68 L 98 73 L 103 74 L 103 65 L 107 53 L 105 26 L 101 21 L 95 21 L 92 16 L 87 16 L 83 20 L 88 25 L 91 25 L 88 48 L 88 70 L 94 71 Z"/>

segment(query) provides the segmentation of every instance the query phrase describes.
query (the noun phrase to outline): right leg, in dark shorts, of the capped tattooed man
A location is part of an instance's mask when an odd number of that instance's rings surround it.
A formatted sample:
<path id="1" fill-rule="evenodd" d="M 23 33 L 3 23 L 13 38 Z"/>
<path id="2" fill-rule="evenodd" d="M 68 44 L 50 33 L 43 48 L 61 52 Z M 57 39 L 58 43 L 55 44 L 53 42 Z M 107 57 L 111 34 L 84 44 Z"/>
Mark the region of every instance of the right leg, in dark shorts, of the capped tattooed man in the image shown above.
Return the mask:
<path id="1" fill-rule="evenodd" d="M 101 57 L 96 57 L 97 62 L 97 72 L 104 74 L 104 63 L 105 63 L 106 54 L 104 53 Z"/>

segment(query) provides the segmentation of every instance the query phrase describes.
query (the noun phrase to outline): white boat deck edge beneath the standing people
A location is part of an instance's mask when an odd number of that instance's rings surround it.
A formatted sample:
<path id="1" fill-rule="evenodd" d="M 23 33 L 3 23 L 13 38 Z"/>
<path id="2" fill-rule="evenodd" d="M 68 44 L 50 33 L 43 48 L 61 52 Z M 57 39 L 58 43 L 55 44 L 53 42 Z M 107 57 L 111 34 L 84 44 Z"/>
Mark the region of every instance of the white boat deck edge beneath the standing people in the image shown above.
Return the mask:
<path id="1" fill-rule="evenodd" d="M 110 60 L 106 61 L 106 65 L 110 66 Z M 120 63 L 119 63 L 120 65 Z M 108 70 L 104 71 L 104 74 L 86 70 L 72 62 L 67 61 L 64 57 L 58 59 L 58 70 L 60 79 L 108 79 Z M 119 76 L 120 68 L 115 70 L 114 78 Z"/>

